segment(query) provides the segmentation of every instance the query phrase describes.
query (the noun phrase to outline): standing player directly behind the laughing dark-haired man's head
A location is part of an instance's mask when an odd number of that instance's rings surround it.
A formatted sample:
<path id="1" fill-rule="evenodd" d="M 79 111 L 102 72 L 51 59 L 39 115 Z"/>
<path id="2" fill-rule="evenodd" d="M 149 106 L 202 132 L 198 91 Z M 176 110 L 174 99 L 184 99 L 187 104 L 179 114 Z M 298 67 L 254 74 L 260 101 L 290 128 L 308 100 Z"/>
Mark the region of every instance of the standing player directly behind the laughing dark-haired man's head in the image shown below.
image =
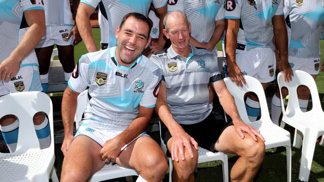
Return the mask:
<path id="1" fill-rule="evenodd" d="M 153 2 L 156 11 L 160 15 L 160 34 L 159 39 L 152 41 L 150 49 L 151 51 L 145 52 L 157 53 L 163 49 L 165 40 L 163 39 L 163 17 L 166 13 L 166 0 L 81 0 L 77 13 L 77 23 L 83 38 L 83 41 L 89 52 L 98 51 L 95 41 L 91 33 L 91 24 L 89 16 L 95 10 L 99 4 L 101 17 L 101 43 L 102 49 L 107 47 L 114 47 L 117 45 L 115 38 L 116 27 L 120 24 L 123 16 L 129 12 L 142 13 L 148 16 L 150 5 Z"/>

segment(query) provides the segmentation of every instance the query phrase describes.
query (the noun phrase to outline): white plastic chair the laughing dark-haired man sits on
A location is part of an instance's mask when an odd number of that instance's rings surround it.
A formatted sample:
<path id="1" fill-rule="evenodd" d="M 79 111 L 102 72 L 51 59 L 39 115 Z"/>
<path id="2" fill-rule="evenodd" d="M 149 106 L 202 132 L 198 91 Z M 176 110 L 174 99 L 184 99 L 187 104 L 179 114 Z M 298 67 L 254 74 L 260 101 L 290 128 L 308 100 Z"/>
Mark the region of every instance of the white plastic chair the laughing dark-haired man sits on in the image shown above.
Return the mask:
<path id="1" fill-rule="evenodd" d="M 75 112 L 75 124 L 76 128 L 79 128 L 79 122 L 82 119 L 84 110 L 87 107 L 88 102 L 88 90 L 83 91 L 78 95 L 78 104 Z M 131 176 L 139 176 L 139 173 L 134 169 L 123 168 L 117 164 L 112 165 L 105 164 L 97 173 L 95 173 L 89 182 L 101 182 L 105 180 L 111 180 L 115 178 L 127 177 L 127 181 L 132 181 Z M 130 177 L 130 178 L 128 178 Z"/>

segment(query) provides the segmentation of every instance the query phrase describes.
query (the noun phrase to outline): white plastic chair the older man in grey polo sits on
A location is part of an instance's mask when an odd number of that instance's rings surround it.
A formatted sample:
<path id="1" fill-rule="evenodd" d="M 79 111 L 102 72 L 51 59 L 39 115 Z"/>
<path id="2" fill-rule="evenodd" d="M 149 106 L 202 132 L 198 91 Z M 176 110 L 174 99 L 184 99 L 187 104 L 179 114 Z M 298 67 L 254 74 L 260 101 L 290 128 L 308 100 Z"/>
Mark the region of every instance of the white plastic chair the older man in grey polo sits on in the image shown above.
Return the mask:
<path id="1" fill-rule="evenodd" d="M 166 145 L 164 140 L 161 137 L 161 121 L 160 121 L 160 139 L 161 139 L 161 148 L 164 154 L 166 154 Z M 169 162 L 169 182 L 172 182 L 172 170 L 173 162 L 170 157 L 167 158 Z M 222 173 L 223 173 L 223 182 L 228 182 L 228 160 L 227 155 L 222 152 L 210 152 L 204 148 L 198 147 L 198 163 L 205 163 L 209 161 L 221 161 L 222 162 Z"/>

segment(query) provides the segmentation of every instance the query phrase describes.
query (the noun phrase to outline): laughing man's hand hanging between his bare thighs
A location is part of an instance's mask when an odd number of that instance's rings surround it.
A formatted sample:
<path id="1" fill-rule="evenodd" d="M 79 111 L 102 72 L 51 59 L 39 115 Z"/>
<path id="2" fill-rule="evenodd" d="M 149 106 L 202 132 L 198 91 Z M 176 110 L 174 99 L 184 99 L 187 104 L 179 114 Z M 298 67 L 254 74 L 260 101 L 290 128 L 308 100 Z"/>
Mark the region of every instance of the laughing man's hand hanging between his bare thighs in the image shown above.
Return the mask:
<path id="1" fill-rule="evenodd" d="M 111 163 L 115 163 L 116 158 L 119 156 L 123 146 L 124 144 L 120 143 L 120 140 L 118 140 L 116 137 L 107 140 L 100 151 L 101 159 L 106 163 L 109 161 L 111 161 Z"/>

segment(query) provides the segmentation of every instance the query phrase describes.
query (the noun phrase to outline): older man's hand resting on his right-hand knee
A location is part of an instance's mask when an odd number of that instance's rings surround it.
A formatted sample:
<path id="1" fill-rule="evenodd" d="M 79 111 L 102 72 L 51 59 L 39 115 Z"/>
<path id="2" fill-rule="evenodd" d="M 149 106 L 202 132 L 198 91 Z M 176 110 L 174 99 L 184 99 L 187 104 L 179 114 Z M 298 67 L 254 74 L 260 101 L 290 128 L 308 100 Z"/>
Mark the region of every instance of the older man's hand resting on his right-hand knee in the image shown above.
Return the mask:
<path id="1" fill-rule="evenodd" d="M 260 134 L 259 130 L 256 130 L 252 126 L 245 124 L 242 120 L 236 121 L 234 124 L 234 128 L 235 128 L 237 134 L 242 139 L 244 139 L 243 132 L 245 132 L 245 133 L 248 133 L 249 135 L 251 135 L 251 137 L 253 138 L 254 141 L 258 141 L 257 137 L 259 137 L 263 142 L 265 142 L 265 140 L 264 140 L 263 136 Z"/>

